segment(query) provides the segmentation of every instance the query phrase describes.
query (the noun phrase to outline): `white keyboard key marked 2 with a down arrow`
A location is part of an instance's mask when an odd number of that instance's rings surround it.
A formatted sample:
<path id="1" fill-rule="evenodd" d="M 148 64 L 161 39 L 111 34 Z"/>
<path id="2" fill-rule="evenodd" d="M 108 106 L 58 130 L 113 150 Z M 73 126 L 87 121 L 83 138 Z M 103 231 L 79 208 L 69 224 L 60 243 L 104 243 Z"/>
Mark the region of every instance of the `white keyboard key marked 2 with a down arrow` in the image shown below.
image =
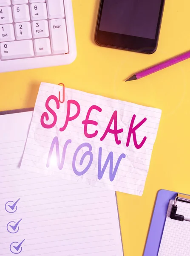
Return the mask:
<path id="1" fill-rule="evenodd" d="M 25 40 L 32 38 L 30 22 L 16 23 L 14 26 L 17 40 Z"/>

